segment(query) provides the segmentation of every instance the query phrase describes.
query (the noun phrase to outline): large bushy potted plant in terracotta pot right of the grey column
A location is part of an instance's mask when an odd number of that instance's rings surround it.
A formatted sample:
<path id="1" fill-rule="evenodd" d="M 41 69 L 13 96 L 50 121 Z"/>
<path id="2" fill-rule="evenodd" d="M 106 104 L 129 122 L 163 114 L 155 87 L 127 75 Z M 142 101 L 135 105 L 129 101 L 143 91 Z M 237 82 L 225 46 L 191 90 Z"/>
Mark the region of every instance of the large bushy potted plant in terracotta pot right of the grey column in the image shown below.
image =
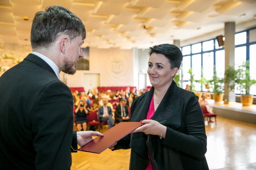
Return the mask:
<path id="1" fill-rule="evenodd" d="M 250 106 L 253 103 L 253 95 L 249 94 L 250 87 L 256 85 L 256 80 L 250 77 L 249 61 L 235 69 L 234 66 L 228 66 L 225 71 L 224 82 L 228 83 L 230 91 L 235 88 L 240 92 L 240 99 L 243 106 Z"/>

